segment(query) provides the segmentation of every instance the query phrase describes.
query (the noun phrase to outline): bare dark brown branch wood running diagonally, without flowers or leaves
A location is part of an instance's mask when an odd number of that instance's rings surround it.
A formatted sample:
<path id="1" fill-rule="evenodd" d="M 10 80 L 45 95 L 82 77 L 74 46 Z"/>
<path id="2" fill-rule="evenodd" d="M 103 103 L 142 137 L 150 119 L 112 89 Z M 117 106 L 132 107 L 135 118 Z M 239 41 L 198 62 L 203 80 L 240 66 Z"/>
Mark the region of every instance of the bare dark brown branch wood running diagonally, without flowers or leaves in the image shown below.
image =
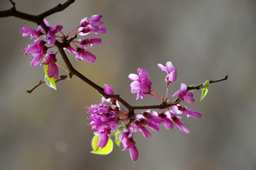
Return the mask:
<path id="1" fill-rule="evenodd" d="M 26 14 L 26 13 L 17 11 L 16 8 L 15 8 L 15 3 L 12 2 L 12 0 L 9 0 L 9 1 L 12 3 L 12 8 L 10 8 L 9 10 L 0 11 L 0 17 L 13 16 L 13 17 L 17 17 L 17 18 L 20 18 L 20 19 L 23 19 L 23 20 L 32 21 L 32 22 L 37 23 L 38 25 L 40 25 L 44 29 L 45 34 L 47 34 L 47 32 L 49 31 L 49 28 L 45 25 L 43 19 L 45 17 L 51 15 L 51 14 L 54 14 L 54 13 L 59 12 L 59 11 L 63 11 L 65 8 L 70 6 L 71 3 L 75 2 L 75 0 L 67 0 L 65 3 L 58 4 L 57 6 L 51 8 L 51 9 L 49 9 L 49 10 L 47 10 L 47 11 L 41 13 L 41 14 L 31 15 L 31 14 Z M 154 109 L 164 109 L 164 108 L 168 108 L 172 105 L 176 105 L 179 102 L 178 99 L 175 99 L 175 102 L 173 102 L 169 105 L 160 104 L 160 105 L 151 105 L 151 106 L 131 106 L 124 99 L 122 99 L 118 94 L 106 94 L 102 87 L 100 87 L 99 85 L 95 84 L 91 80 L 84 77 L 84 75 L 79 73 L 79 71 L 76 71 L 76 69 L 73 68 L 73 65 L 70 63 L 69 59 L 67 58 L 66 53 L 63 50 L 63 48 L 65 47 L 64 44 L 62 44 L 61 42 L 56 41 L 55 45 L 58 48 L 58 51 L 60 52 L 62 59 L 64 60 L 65 64 L 67 65 L 67 68 L 70 71 L 70 76 L 76 75 L 83 82 L 87 83 L 92 88 L 94 88 L 96 91 L 98 91 L 99 94 L 104 96 L 106 99 L 108 99 L 108 98 L 117 99 L 130 112 L 134 112 L 134 110 L 137 110 L 137 109 L 153 109 L 153 108 Z M 66 78 L 67 78 L 67 75 L 61 76 L 61 79 L 56 79 L 55 82 L 61 81 L 61 80 L 66 79 Z M 215 80 L 215 81 L 211 80 L 211 81 L 209 81 L 209 83 L 220 82 L 220 81 L 223 81 L 223 80 L 226 80 L 226 79 L 227 79 L 227 76 L 224 79 Z M 27 92 L 30 94 L 35 88 L 37 88 L 39 85 L 41 85 L 43 83 L 45 83 L 45 82 L 40 80 L 40 82 L 38 82 L 37 85 L 35 85 L 32 89 L 28 90 Z M 200 89 L 200 87 L 202 87 L 202 86 L 203 85 L 198 85 L 196 87 L 187 87 L 187 90 Z"/>

